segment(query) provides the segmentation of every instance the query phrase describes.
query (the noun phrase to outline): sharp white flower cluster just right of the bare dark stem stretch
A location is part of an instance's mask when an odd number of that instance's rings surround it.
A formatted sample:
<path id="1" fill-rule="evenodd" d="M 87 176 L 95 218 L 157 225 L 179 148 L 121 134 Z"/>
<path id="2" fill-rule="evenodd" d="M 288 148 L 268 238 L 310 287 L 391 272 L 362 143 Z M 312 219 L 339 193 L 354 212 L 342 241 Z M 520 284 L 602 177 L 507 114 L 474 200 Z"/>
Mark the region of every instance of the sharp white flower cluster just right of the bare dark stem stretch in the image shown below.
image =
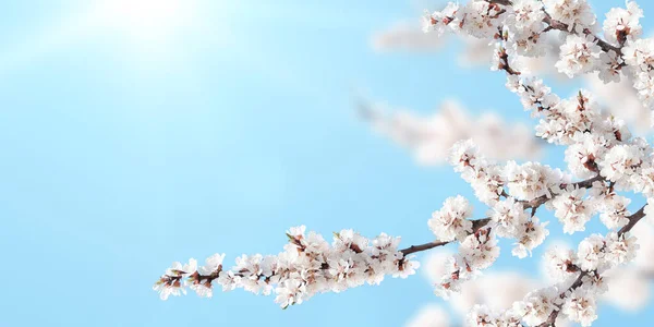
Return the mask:
<path id="1" fill-rule="evenodd" d="M 499 255 L 495 235 L 516 240 L 512 254 L 520 258 L 531 255 L 531 251 L 543 243 L 548 234 L 547 222 L 528 215 L 528 202 L 543 197 L 543 203 L 568 183 L 559 170 L 528 162 L 506 166 L 489 162 L 480 156 L 471 141 L 457 143 L 451 150 L 450 162 L 455 170 L 475 190 L 476 196 L 492 206 L 489 219 L 469 220 L 472 207 L 461 196 L 449 197 L 443 207 L 435 211 L 428 226 L 440 241 L 459 241 L 459 253 L 450 257 L 447 269 L 436 283 L 436 293 L 449 296 L 457 292 L 461 283 L 480 270 L 487 268 Z M 505 191 L 508 187 L 508 195 Z M 505 196 L 505 199 L 501 197 Z M 482 225 L 482 226 L 480 226 Z"/>

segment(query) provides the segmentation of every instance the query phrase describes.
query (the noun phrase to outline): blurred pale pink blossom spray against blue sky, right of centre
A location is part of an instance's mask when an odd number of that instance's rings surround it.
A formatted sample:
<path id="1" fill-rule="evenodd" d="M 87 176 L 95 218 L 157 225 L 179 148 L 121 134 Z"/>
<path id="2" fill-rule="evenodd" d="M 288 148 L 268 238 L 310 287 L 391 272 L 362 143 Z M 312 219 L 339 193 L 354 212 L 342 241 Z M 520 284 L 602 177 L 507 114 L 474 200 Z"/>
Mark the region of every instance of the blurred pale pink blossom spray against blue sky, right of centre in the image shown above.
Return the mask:
<path id="1" fill-rule="evenodd" d="M 455 100 L 444 101 L 429 117 L 408 110 L 387 113 L 379 106 L 362 106 L 362 117 L 380 134 L 411 150 L 420 165 L 446 162 L 450 147 L 460 140 L 472 138 L 488 158 L 533 159 L 541 143 L 524 124 L 505 122 L 499 116 L 484 112 L 470 117 Z"/>

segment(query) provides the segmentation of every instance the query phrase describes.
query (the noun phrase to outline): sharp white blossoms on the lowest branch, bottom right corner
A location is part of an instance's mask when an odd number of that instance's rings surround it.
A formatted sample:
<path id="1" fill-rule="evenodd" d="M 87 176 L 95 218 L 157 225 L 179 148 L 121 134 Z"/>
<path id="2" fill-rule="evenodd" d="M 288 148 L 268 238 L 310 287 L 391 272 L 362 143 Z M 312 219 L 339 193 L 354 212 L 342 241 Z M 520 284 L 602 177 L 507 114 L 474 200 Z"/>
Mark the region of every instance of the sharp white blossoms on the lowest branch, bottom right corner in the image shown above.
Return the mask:
<path id="1" fill-rule="evenodd" d="M 635 257 L 635 238 L 609 233 L 593 234 L 579 244 L 577 253 L 555 247 L 545 255 L 547 271 L 558 284 L 528 293 L 506 311 L 475 306 L 468 316 L 470 326 L 540 326 L 560 312 L 568 319 L 590 326 L 597 318 L 597 296 L 607 291 L 602 272 Z M 577 277 L 582 271 L 581 277 Z M 577 272 L 577 274 L 576 274 Z M 568 284 L 574 280 L 574 287 Z"/>

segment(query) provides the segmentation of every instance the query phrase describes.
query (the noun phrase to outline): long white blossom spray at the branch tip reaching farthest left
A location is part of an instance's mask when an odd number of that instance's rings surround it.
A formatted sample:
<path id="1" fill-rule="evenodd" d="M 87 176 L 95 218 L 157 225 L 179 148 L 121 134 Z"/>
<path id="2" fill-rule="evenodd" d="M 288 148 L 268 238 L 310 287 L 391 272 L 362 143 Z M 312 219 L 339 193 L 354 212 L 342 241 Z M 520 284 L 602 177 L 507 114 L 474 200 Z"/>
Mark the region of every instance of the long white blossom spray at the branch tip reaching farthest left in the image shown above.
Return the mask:
<path id="1" fill-rule="evenodd" d="M 209 257 L 203 267 L 197 267 L 193 258 L 185 265 L 173 263 L 154 289 L 166 300 L 185 294 L 185 287 L 201 296 L 211 296 L 216 284 L 223 291 L 242 288 L 255 294 L 275 293 L 275 302 L 288 307 L 316 293 L 378 284 L 386 275 L 407 278 L 420 266 L 398 250 L 399 238 L 385 233 L 368 240 L 352 230 L 342 230 L 335 233 L 331 244 L 320 234 L 305 233 L 304 226 L 291 228 L 287 235 L 284 252 L 243 255 L 229 270 L 222 269 L 223 254 Z"/>

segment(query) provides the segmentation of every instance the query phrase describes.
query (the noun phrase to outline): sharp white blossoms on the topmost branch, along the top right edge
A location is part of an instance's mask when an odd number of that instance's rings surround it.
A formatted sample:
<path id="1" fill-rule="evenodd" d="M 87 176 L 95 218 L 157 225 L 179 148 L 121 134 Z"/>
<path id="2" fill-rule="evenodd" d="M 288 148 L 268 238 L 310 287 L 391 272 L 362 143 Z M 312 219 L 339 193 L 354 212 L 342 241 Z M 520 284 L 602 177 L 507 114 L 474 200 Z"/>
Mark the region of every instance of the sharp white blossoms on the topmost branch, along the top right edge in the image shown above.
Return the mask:
<path id="1" fill-rule="evenodd" d="M 606 13 L 602 27 L 585 0 L 473 0 L 423 17 L 423 31 L 446 31 L 479 39 L 505 38 L 504 49 L 519 58 L 544 56 L 550 47 L 548 33 L 562 32 L 555 68 L 569 77 L 597 73 L 605 83 L 632 81 L 640 99 L 654 108 L 654 41 L 641 38 L 642 10 L 633 1 Z M 594 32 L 603 31 L 604 38 Z"/>

